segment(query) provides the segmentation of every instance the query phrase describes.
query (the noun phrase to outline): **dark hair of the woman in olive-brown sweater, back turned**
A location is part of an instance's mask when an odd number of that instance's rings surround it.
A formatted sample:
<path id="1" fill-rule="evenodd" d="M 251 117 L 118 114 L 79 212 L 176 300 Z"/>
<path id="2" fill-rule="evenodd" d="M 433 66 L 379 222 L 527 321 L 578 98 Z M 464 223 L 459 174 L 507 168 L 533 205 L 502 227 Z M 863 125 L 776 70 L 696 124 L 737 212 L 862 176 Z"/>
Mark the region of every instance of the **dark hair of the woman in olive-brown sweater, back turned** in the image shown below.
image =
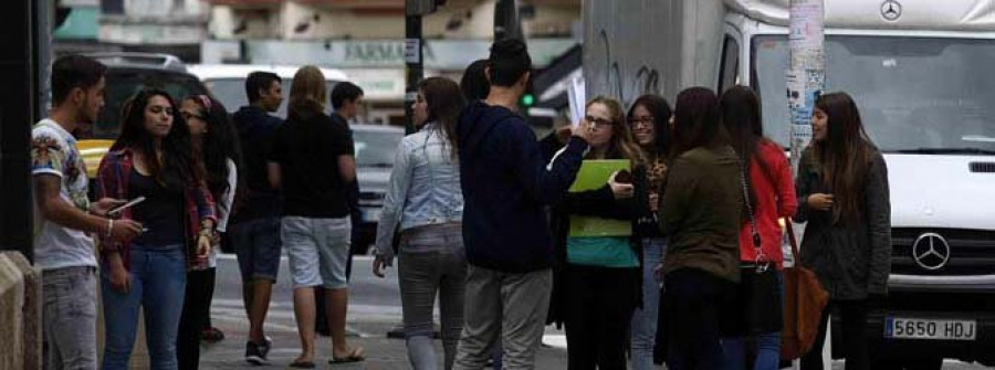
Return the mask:
<path id="1" fill-rule="evenodd" d="M 729 145 L 729 134 L 719 123 L 719 97 L 705 87 L 678 94 L 673 109 L 673 156 L 698 148 Z"/>

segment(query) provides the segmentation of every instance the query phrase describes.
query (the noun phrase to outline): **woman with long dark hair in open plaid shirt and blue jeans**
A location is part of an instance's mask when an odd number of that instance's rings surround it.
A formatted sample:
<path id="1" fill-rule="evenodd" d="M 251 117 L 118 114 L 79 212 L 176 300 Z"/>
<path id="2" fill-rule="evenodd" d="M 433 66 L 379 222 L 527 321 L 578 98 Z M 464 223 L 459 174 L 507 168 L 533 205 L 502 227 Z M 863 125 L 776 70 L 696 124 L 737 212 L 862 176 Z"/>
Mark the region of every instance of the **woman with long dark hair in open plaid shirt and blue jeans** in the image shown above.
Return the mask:
<path id="1" fill-rule="evenodd" d="M 125 103 L 121 135 L 101 162 L 97 197 L 145 197 L 121 216 L 147 229 L 127 242 L 104 237 L 101 243 L 104 369 L 128 368 L 139 308 L 151 367 L 177 369 L 187 272 L 210 254 L 214 201 L 176 108 L 166 92 L 136 94 Z"/>

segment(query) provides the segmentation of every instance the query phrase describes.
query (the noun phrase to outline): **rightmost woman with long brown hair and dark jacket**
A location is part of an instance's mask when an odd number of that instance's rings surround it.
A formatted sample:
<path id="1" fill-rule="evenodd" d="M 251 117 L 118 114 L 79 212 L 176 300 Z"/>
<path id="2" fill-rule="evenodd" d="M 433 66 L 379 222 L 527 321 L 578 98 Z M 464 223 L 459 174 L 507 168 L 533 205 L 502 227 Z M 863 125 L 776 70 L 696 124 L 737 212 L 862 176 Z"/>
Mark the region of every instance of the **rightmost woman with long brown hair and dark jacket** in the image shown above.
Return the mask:
<path id="1" fill-rule="evenodd" d="M 839 309 L 847 369 L 869 369 L 867 303 L 887 293 L 891 272 L 888 167 L 846 93 L 816 101 L 811 131 L 795 184 L 800 203 L 796 218 L 808 222 L 802 261 L 829 292 L 829 305 L 802 369 L 823 369 L 830 307 Z"/>

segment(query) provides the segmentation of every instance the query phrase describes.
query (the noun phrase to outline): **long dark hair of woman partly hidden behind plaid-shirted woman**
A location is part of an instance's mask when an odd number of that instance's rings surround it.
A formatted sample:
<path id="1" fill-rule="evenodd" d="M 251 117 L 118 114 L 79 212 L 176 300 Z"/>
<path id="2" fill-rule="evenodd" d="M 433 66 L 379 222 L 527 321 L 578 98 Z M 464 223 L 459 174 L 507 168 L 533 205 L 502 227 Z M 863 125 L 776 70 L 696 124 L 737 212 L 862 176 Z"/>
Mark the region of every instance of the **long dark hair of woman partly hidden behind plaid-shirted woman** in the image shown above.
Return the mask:
<path id="1" fill-rule="evenodd" d="M 193 102 L 205 113 L 207 131 L 203 134 L 203 142 L 200 146 L 200 157 L 206 170 L 208 190 L 214 199 L 221 199 L 230 184 L 228 176 L 228 159 L 240 168 L 242 163 L 242 149 L 239 146 L 239 136 L 235 134 L 228 110 L 217 99 L 207 95 L 195 95 L 187 101 Z"/>

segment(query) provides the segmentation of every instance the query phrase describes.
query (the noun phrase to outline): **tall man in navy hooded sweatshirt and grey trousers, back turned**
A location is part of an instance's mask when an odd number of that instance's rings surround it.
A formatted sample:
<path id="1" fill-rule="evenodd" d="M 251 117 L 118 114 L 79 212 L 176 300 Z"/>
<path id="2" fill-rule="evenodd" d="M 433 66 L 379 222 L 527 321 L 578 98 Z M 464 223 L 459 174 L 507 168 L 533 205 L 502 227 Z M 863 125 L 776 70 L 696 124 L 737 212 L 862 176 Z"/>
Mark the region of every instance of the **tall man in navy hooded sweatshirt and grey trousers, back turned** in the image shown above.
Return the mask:
<path id="1" fill-rule="evenodd" d="M 491 46 L 485 101 L 463 112 L 458 126 L 463 190 L 463 242 L 470 262 L 465 324 L 454 369 L 483 369 L 502 337 L 503 366 L 533 369 L 553 288 L 553 236 L 544 207 L 567 192 L 589 130 L 575 130 L 547 163 L 525 119 L 515 113 L 532 59 L 521 40 Z"/>

